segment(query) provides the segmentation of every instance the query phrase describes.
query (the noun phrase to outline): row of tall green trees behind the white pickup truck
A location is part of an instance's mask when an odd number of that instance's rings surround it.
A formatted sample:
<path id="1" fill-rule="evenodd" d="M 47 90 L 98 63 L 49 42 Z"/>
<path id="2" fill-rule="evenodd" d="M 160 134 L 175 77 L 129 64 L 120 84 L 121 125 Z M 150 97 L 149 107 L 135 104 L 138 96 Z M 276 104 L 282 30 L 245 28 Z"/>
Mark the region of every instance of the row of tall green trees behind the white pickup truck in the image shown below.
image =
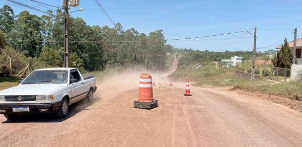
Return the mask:
<path id="1" fill-rule="evenodd" d="M 28 62 L 33 69 L 63 66 L 64 14 L 61 9 L 48 13 L 53 15 L 15 14 L 8 5 L 0 8 L 0 73 L 16 75 Z M 79 17 L 69 17 L 68 22 L 70 66 L 81 72 L 134 69 L 134 64 L 145 63 L 147 69 L 166 70 L 176 50 L 166 42 L 163 30 L 145 34 L 134 28 L 124 30 L 120 23 L 114 28 L 89 26 Z"/>

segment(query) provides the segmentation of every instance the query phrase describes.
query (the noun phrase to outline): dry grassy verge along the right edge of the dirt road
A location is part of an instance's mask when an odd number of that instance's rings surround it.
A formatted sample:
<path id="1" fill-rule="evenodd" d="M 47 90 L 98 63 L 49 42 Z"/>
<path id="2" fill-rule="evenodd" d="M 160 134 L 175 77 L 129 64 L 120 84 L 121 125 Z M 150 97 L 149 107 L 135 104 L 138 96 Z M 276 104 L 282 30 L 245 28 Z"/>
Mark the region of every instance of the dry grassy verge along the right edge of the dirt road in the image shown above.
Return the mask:
<path id="1" fill-rule="evenodd" d="M 263 68 L 270 67 L 260 67 L 260 69 Z M 261 72 L 259 75 L 262 75 Z M 176 82 L 184 82 L 186 80 L 196 82 L 193 86 L 197 87 L 233 87 L 234 89 L 302 100 L 302 83 L 286 82 L 275 84 L 268 80 L 249 81 L 237 77 L 235 68 L 232 67 L 216 70 L 214 65 L 209 64 L 198 69 L 193 67 L 178 68 L 169 77 Z"/>

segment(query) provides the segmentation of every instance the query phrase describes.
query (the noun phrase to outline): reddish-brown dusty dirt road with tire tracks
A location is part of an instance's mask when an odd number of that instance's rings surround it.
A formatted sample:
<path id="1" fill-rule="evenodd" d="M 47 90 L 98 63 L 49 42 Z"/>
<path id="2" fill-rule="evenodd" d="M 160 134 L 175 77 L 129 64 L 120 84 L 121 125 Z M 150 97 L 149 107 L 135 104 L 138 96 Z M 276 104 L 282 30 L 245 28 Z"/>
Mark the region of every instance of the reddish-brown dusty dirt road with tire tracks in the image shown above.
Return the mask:
<path id="1" fill-rule="evenodd" d="M 302 146 L 302 113 L 286 106 L 192 86 L 188 97 L 185 83 L 164 82 L 154 87 L 159 107 L 134 109 L 139 75 L 121 77 L 99 82 L 95 103 L 65 119 L 0 115 L 0 146 Z"/>

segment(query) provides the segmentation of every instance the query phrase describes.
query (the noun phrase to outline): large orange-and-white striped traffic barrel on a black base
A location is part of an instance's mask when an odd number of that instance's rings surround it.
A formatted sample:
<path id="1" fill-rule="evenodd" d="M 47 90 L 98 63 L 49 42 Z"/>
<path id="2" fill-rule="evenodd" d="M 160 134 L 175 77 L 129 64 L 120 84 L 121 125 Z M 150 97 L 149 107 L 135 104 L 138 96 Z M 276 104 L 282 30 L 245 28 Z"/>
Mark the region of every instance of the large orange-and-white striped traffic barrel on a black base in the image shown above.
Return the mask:
<path id="1" fill-rule="evenodd" d="M 138 101 L 134 101 L 134 108 L 153 109 L 155 107 L 158 107 L 158 100 L 153 99 L 152 77 L 149 73 L 141 73 Z"/>

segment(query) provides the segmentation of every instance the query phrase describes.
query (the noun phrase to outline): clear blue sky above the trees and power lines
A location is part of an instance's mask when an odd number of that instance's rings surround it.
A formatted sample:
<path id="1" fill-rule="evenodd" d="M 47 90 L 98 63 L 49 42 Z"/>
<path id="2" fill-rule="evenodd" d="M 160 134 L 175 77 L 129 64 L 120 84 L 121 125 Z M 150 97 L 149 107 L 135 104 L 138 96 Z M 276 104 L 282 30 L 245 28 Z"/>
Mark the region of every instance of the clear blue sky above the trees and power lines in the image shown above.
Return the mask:
<path id="1" fill-rule="evenodd" d="M 36 1 L 58 7 L 62 5 L 62 0 Z M 29 0 L 19 0 L 18 2 L 37 5 Z M 152 31 L 164 30 L 166 39 L 191 38 L 247 30 L 247 32 L 230 35 L 167 41 L 168 44 L 176 48 L 209 51 L 252 51 L 255 27 L 257 27 L 257 51 L 274 49 L 284 42 L 285 37 L 288 42 L 292 41 L 294 28 L 297 28 L 297 38 L 302 37 L 302 30 L 299 30 L 302 29 L 302 1 L 99 0 L 99 2 L 111 19 L 122 25 L 124 31 L 134 28 L 139 33 L 148 34 Z M 7 0 L 0 0 L 0 6 L 4 4 L 12 3 Z M 26 10 L 19 6 L 10 6 L 15 14 Z M 69 12 L 80 8 L 85 10 L 71 13 L 74 18 L 81 17 L 90 26 L 103 27 L 108 25 L 110 28 L 114 27 L 94 0 L 81 0 L 80 6 L 71 7 Z M 32 10 L 28 11 L 38 16 L 43 15 Z"/>

